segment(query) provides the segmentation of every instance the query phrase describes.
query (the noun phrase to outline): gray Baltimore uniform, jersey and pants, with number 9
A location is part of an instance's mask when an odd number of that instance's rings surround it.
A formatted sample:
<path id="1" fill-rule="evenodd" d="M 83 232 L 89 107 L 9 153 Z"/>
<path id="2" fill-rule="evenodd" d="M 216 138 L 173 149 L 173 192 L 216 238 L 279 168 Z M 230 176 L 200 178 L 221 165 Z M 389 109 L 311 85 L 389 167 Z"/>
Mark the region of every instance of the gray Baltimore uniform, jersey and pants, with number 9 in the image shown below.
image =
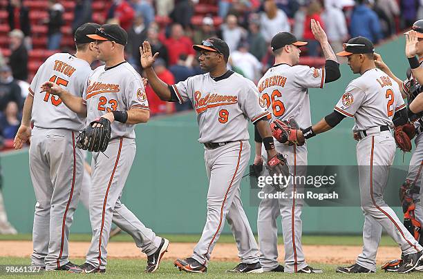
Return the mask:
<path id="1" fill-rule="evenodd" d="M 250 159 L 248 121 L 254 123 L 269 113 L 259 105 L 254 83 L 232 71 L 215 79 L 208 73 L 192 76 L 171 87 L 180 103 L 192 102 L 198 141 L 218 144 L 205 148 L 207 220 L 192 258 L 207 266 L 227 219 L 241 262 L 258 262 L 259 249 L 242 207 L 240 184 Z"/>

